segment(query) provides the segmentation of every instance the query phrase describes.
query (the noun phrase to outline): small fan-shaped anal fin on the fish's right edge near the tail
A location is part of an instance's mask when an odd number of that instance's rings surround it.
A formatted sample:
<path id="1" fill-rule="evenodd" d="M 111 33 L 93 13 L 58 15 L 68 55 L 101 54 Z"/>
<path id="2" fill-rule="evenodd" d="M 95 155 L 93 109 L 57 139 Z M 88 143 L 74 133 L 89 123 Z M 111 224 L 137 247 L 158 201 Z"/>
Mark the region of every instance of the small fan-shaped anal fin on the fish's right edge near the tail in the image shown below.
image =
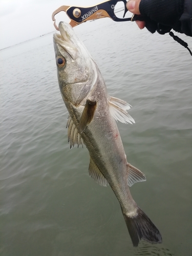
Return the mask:
<path id="1" fill-rule="evenodd" d="M 131 187 L 134 183 L 146 181 L 145 175 L 136 167 L 127 163 L 127 183 Z"/>

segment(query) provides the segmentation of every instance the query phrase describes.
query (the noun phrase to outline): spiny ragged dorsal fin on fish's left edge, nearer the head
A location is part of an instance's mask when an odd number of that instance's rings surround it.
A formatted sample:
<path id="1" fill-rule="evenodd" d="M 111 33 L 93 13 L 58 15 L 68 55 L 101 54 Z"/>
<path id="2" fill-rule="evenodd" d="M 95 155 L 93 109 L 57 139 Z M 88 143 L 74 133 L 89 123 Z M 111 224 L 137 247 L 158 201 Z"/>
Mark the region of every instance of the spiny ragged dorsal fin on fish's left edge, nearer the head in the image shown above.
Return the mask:
<path id="1" fill-rule="evenodd" d="M 66 128 L 68 127 L 68 142 L 70 143 L 70 148 L 75 144 L 79 145 L 82 144 L 82 147 L 83 147 L 83 140 L 80 136 L 80 134 L 78 133 L 77 131 L 77 128 L 71 118 L 71 116 L 69 116 L 68 118 L 68 122 L 67 122 L 67 126 Z"/>

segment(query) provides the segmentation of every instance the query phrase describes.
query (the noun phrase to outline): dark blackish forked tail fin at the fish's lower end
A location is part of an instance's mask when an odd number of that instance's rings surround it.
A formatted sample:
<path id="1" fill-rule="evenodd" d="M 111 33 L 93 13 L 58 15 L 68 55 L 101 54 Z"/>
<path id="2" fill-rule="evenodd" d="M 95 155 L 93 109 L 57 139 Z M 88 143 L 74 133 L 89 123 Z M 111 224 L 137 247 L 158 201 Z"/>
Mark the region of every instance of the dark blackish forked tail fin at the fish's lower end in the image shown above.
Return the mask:
<path id="1" fill-rule="evenodd" d="M 141 239 L 154 244 L 162 243 L 159 230 L 139 207 L 137 208 L 137 216 L 128 217 L 126 214 L 123 214 L 123 216 L 133 246 L 138 246 Z"/>

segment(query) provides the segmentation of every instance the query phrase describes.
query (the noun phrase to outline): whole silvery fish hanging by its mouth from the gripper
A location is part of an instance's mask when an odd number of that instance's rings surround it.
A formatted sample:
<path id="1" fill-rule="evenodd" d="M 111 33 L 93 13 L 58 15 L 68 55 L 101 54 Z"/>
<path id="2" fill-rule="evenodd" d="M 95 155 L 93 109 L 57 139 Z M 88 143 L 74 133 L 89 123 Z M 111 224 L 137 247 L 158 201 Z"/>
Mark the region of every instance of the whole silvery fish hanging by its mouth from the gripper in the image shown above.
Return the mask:
<path id="1" fill-rule="evenodd" d="M 127 113 L 131 105 L 108 95 L 104 79 L 72 27 L 59 23 L 53 35 L 61 96 L 69 112 L 70 147 L 86 145 L 90 154 L 89 175 L 100 185 L 110 185 L 117 197 L 133 246 L 141 239 L 162 243 L 162 237 L 134 201 L 130 186 L 145 175 L 127 162 L 116 121 L 135 123 Z"/>

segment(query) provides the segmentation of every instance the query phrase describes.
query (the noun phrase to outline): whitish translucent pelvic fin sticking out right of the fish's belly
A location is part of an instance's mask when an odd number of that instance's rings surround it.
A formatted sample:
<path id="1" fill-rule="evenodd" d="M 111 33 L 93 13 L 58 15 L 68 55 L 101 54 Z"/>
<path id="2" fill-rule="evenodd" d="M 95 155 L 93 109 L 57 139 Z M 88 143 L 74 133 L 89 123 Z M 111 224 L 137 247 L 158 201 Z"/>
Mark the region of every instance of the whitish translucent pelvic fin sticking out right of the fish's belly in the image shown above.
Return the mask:
<path id="1" fill-rule="evenodd" d="M 115 118 L 116 121 L 120 121 L 122 123 L 135 123 L 133 117 L 131 117 L 127 110 L 130 110 L 131 105 L 126 101 L 109 96 L 109 109 L 111 115 Z"/>

